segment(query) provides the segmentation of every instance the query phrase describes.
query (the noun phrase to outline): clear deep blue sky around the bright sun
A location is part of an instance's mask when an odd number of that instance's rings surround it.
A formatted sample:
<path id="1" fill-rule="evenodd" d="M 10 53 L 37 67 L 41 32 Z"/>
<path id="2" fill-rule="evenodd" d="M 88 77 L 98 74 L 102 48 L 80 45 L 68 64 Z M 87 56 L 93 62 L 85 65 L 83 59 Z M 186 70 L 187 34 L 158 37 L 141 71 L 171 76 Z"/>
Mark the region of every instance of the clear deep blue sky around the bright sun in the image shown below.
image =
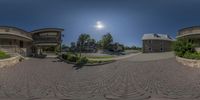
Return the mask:
<path id="1" fill-rule="evenodd" d="M 26 31 L 63 28 L 63 43 L 81 33 L 96 40 L 110 32 L 115 42 L 140 46 L 145 33 L 176 37 L 181 28 L 200 25 L 200 0 L 0 0 L 0 25 Z M 101 21 L 105 28 L 94 25 Z"/>

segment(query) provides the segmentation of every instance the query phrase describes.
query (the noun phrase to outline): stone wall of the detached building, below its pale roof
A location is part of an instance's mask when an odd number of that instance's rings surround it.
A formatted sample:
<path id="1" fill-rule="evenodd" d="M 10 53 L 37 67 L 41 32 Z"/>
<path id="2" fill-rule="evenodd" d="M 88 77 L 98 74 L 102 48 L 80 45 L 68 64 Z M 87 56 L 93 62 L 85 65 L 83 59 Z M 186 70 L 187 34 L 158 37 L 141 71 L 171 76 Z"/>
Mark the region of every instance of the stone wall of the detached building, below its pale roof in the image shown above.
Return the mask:
<path id="1" fill-rule="evenodd" d="M 151 50 L 150 50 L 151 48 Z M 162 48 L 162 49 L 161 49 Z M 143 52 L 167 52 L 172 50 L 172 41 L 143 40 Z"/>

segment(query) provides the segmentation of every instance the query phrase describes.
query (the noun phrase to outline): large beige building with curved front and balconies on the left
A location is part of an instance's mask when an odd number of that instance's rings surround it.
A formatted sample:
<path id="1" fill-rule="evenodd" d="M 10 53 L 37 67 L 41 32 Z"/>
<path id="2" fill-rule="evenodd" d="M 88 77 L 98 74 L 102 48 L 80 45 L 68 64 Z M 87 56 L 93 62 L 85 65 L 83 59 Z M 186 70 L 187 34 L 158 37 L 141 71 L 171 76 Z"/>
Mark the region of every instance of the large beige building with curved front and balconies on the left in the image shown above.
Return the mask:
<path id="1" fill-rule="evenodd" d="M 0 26 L 0 50 L 22 56 L 55 54 L 61 49 L 62 31 L 60 28 L 44 28 L 27 32 L 16 27 Z"/>

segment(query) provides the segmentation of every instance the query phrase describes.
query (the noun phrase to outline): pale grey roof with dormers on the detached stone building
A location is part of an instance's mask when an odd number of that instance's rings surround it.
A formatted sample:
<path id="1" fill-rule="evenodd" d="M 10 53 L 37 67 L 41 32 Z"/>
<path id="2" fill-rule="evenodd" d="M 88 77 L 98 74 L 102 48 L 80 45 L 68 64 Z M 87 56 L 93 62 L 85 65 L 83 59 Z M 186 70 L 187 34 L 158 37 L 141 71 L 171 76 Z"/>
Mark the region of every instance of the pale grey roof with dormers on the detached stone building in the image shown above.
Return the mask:
<path id="1" fill-rule="evenodd" d="M 172 37 L 167 34 L 144 34 L 142 40 L 167 40 L 167 41 L 174 41 Z"/>

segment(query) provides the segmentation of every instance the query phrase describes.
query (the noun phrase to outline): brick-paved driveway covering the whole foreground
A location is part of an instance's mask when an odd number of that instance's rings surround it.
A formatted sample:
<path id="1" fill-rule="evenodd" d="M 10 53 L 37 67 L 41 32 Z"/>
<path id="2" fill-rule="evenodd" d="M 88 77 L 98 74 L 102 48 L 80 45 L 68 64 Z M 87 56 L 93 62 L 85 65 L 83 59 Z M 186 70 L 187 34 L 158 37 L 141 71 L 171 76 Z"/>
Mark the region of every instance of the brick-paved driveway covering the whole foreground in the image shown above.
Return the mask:
<path id="1" fill-rule="evenodd" d="M 162 54 L 161 54 L 162 55 Z M 13 100 L 198 100 L 200 70 L 174 57 L 83 67 L 30 59 L 0 70 L 0 98 Z M 144 55 L 140 55 L 144 56 Z M 151 58 L 146 56 L 147 58 Z"/>

